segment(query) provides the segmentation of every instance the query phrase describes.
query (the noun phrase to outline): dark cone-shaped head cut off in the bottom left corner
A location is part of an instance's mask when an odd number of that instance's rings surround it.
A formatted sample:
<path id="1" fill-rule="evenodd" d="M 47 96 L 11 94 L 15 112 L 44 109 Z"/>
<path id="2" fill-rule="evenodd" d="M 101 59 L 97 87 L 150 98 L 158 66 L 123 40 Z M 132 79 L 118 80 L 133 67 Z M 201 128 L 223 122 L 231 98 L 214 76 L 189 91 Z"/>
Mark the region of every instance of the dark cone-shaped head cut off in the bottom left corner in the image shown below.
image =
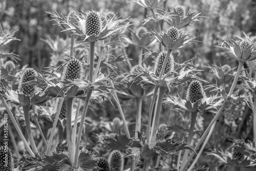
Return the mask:
<path id="1" fill-rule="evenodd" d="M 0 147 L 0 170 L 12 171 L 14 169 L 11 149 L 7 146 Z"/>

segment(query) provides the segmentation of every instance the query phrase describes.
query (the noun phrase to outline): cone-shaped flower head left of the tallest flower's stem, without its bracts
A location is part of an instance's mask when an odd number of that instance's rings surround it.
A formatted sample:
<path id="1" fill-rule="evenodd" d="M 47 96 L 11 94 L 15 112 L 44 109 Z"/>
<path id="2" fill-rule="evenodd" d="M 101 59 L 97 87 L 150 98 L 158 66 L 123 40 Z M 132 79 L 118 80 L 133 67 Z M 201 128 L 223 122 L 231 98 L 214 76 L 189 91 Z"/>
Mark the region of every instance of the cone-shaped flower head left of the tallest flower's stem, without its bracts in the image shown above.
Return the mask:
<path id="1" fill-rule="evenodd" d="M 82 78 L 83 66 L 82 62 L 78 59 L 71 59 L 64 67 L 62 72 L 61 81 Z"/>

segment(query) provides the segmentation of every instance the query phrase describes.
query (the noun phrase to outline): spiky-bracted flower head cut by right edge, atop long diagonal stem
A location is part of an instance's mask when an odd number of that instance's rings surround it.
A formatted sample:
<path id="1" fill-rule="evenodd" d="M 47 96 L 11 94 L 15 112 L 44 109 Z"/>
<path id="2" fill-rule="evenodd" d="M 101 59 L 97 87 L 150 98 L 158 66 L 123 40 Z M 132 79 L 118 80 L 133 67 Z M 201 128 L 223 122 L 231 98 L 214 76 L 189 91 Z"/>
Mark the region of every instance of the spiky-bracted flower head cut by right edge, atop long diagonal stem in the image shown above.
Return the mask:
<path id="1" fill-rule="evenodd" d="M 232 44 L 229 41 L 224 41 L 222 46 L 228 50 L 231 57 L 234 59 L 246 62 L 256 59 L 256 50 L 254 49 L 254 44 L 249 40 L 242 40 L 238 43 L 234 40 L 231 40 Z"/>

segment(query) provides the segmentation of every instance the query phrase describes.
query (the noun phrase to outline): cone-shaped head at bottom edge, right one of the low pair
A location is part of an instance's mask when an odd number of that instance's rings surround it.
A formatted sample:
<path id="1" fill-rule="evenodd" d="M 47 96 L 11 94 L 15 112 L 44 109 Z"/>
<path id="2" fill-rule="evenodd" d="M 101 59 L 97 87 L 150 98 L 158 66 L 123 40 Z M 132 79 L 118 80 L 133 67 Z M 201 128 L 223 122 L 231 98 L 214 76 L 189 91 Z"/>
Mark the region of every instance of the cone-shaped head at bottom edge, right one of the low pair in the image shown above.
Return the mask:
<path id="1" fill-rule="evenodd" d="M 121 152 L 113 151 L 109 156 L 111 171 L 122 171 L 123 170 L 123 157 Z"/>

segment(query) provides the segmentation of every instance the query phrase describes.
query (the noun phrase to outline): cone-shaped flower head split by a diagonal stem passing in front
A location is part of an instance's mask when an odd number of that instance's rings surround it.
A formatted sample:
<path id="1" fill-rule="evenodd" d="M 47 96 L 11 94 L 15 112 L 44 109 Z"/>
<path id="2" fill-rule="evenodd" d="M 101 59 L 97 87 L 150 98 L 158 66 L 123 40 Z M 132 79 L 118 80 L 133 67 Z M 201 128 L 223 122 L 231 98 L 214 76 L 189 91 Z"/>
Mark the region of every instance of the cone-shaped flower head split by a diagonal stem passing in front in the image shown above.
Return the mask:
<path id="1" fill-rule="evenodd" d="M 166 52 L 160 52 L 158 54 L 157 58 L 156 58 L 156 63 L 155 63 L 156 75 L 160 74 L 160 71 L 162 69 L 165 56 L 166 56 Z M 170 71 L 173 71 L 173 70 L 174 70 L 174 57 L 171 54 L 169 56 L 168 60 L 167 60 L 167 63 L 166 63 L 166 66 L 165 66 L 163 74 L 167 74 L 167 73 L 169 73 Z"/>

